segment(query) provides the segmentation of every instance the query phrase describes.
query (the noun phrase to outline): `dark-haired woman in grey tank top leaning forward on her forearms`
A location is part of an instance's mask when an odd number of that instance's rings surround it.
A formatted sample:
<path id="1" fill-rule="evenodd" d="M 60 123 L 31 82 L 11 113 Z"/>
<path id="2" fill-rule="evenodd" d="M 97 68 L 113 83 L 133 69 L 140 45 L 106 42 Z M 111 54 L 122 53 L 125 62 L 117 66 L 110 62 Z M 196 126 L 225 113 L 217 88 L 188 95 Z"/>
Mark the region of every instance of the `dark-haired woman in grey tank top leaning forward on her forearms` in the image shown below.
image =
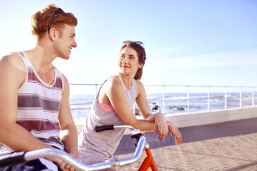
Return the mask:
<path id="1" fill-rule="evenodd" d="M 95 132 L 96 125 L 132 125 L 141 131 L 155 131 L 155 134 L 159 132 L 160 141 L 171 132 L 177 145 L 182 142 L 179 130 L 165 120 L 164 114 L 151 113 L 144 86 L 139 81 L 146 60 L 142 42 L 123 43 L 119 59 L 120 72 L 102 84 L 79 134 L 79 157 L 86 164 L 109 159 L 124 134 L 124 129 Z M 144 119 L 136 119 L 133 114 L 134 102 Z"/>

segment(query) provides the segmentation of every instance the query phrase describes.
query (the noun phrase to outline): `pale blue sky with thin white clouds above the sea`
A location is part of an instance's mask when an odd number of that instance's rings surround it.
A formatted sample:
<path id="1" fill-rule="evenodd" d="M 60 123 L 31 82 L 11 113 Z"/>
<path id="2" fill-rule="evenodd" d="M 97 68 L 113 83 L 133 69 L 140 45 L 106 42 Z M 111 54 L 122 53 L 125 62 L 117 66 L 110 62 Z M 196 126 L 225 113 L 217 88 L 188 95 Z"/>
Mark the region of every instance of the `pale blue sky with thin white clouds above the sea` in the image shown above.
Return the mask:
<path id="1" fill-rule="evenodd" d="M 122 41 L 142 41 L 145 85 L 257 86 L 257 1 L 1 1 L 0 58 L 35 47 L 32 14 L 54 3 L 77 17 L 77 48 L 55 59 L 69 83 L 118 72 Z"/>

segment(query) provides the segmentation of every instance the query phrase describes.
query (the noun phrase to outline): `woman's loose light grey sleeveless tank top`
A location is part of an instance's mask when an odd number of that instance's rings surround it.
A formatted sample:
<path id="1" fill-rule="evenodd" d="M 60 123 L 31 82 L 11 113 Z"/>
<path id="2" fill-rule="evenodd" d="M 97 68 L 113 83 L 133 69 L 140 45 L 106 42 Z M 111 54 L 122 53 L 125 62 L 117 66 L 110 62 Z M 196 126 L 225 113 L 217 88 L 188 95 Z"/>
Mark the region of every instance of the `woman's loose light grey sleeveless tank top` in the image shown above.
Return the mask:
<path id="1" fill-rule="evenodd" d="M 128 105 L 132 110 L 137 96 L 135 79 L 133 79 L 131 89 L 128 90 L 122 81 L 122 77 L 120 75 L 117 75 L 117 77 L 119 77 L 122 83 Z M 124 122 L 115 111 L 104 112 L 104 110 L 99 108 L 97 104 L 98 95 L 99 92 L 93 101 L 91 112 L 86 118 L 84 128 L 79 134 L 79 157 L 82 162 L 87 164 L 103 162 L 110 158 L 117 149 L 124 134 L 124 129 L 95 132 L 96 125 L 124 125 Z"/>

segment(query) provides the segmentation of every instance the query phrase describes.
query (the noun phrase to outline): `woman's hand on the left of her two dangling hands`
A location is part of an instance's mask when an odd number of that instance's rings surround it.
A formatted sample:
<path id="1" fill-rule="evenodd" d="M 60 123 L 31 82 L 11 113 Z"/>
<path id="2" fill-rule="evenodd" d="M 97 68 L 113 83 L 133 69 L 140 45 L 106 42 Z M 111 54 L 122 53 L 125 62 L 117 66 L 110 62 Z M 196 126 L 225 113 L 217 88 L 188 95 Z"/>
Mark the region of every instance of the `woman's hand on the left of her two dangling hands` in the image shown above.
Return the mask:
<path id="1" fill-rule="evenodd" d="M 159 141 L 162 141 L 162 139 L 164 139 L 168 134 L 168 124 L 166 122 L 164 114 L 156 113 L 154 122 L 155 122 L 155 133 L 154 133 L 154 135 L 156 135 L 159 131 L 158 139 L 159 139 Z"/>

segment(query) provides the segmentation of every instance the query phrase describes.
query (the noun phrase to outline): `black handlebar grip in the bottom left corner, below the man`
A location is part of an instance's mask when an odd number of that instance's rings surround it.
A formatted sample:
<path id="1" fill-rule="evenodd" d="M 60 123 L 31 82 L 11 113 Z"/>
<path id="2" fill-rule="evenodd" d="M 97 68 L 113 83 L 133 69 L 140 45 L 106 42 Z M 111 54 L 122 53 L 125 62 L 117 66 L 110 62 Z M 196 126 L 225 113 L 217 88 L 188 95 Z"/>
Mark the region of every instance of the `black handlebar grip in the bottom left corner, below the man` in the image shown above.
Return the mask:
<path id="1" fill-rule="evenodd" d="M 26 152 L 15 152 L 14 154 L 0 157 L 0 168 L 26 163 L 27 161 L 24 158 L 25 154 Z"/>

